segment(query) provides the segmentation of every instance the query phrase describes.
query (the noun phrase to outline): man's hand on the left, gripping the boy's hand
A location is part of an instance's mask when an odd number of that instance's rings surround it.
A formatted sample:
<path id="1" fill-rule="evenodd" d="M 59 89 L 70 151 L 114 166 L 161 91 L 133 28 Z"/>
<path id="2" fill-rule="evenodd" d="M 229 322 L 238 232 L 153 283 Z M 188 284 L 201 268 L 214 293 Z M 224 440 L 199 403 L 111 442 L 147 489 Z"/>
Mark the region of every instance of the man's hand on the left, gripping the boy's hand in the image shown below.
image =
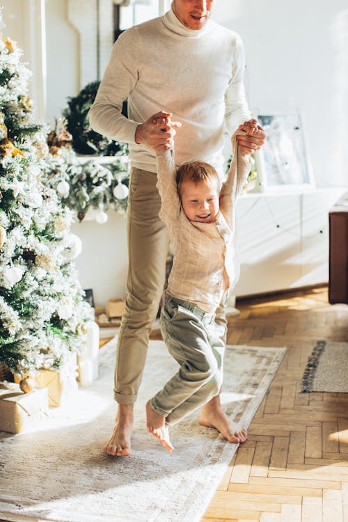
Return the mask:
<path id="1" fill-rule="evenodd" d="M 181 123 L 171 121 L 171 117 L 171 113 L 163 111 L 150 116 L 145 123 L 141 123 L 141 125 L 136 127 L 136 143 L 141 143 L 153 150 L 173 148 L 175 129 L 180 129 Z"/>

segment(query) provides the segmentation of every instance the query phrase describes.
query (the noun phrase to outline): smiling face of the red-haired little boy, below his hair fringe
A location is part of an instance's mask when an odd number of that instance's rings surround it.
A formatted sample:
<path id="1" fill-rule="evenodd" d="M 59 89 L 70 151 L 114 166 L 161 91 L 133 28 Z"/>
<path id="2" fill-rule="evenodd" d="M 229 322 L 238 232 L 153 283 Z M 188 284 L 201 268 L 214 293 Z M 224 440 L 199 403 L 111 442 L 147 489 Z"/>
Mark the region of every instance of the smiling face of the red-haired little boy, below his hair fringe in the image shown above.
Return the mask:
<path id="1" fill-rule="evenodd" d="M 181 186 L 181 203 L 187 219 L 199 223 L 214 223 L 219 214 L 219 182 L 184 180 Z"/>

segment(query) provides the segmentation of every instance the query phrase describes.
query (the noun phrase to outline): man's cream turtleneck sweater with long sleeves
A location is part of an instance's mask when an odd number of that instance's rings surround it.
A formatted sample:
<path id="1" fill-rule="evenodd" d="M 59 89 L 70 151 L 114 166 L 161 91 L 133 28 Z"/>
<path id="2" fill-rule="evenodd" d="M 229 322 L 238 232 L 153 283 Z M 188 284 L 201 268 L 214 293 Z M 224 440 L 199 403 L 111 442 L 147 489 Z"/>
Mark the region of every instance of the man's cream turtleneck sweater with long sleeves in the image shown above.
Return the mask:
<path id="1" fill-rule="evenodd" d="M 250 118 L 243 76 L 237 33 L 211 19 L 203 29 L 187 29 L 171 9 L 116 40 L 90 125 L 129 143 L 132 166 L 155 173 L 155 151 L 135 143 L 135 130 L 152 114 L 171 112 L 182 123 L 175 136 L 177 164 L 202 159 L 221 171 L 223 131 L 232 136 Z M 120 113 L 126 99 L 128 119 Z"/>

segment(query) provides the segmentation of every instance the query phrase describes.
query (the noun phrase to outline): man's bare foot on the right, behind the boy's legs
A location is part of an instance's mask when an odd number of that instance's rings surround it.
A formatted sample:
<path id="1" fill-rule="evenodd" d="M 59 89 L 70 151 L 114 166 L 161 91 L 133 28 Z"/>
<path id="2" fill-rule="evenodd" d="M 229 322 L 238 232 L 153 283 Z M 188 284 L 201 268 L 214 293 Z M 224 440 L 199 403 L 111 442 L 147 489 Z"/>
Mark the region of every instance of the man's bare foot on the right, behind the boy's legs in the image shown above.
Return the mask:
<path id="1" fill-rule="evenodd" d="M 226 413 L 223 412 L 219 395 L 213 397 L 202 407 L 198 422 L 202 426 L 216 428 L 223 437 L 233 443 L 243 443 L 248 438 L 246 429 L 229 420 Z"/>

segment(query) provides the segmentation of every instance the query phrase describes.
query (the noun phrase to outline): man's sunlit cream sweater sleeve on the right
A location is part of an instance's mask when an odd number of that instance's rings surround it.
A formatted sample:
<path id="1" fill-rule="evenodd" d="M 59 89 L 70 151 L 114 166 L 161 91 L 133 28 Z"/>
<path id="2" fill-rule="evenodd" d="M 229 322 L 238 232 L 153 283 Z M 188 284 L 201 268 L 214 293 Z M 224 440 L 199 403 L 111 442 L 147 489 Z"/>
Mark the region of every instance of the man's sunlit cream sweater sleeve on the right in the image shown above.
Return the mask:
<path id="1" fill-rule="evenodd" d="M 251 118 L 244 90 L 244 69 L 244 46 L 242 39 L 236 35 L 232 74 L 225 95 L 225 129 L 229 136 L 241 123 Z"/>

